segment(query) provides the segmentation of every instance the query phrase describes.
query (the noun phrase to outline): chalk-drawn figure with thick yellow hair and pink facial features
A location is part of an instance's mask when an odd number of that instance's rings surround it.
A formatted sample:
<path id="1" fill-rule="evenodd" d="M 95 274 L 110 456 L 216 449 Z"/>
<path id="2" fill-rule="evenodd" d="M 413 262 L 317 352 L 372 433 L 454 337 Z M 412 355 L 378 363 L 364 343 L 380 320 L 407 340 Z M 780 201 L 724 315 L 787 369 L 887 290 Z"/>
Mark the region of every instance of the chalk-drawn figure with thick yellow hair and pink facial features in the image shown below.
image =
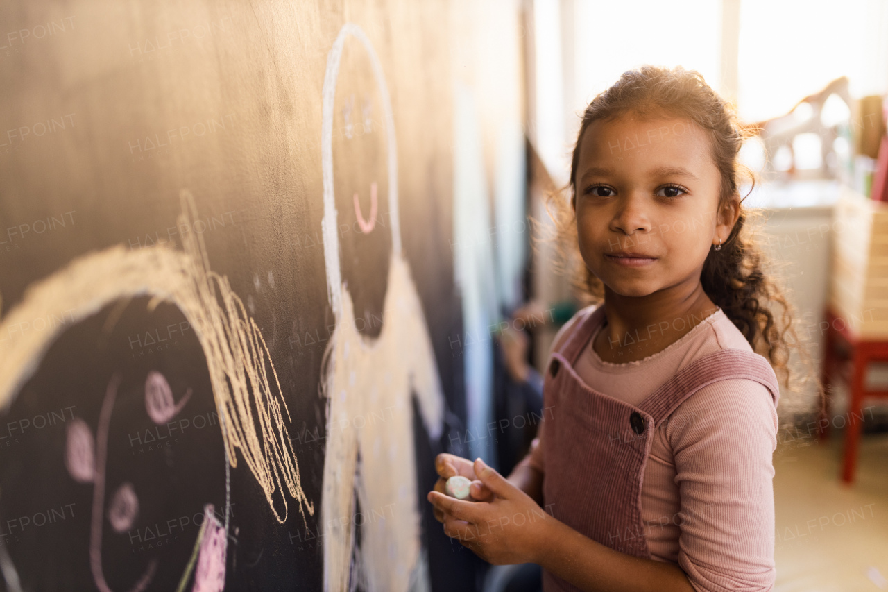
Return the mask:
<path id="1" fill-rule="evenodd" d="M 180 200 L 182 212 L 177 226 L 190 228 L 191 220 L 197 219 L 194 198 L 183 189 Z M 271 276 L 269 284 L 274 287 Z M 246 465 L 281 524 L 289 516 L 289 500 L 296 501 L 304 523 L 306 513 L 314 514 L 314 504 L 303 490 L 287 428 L 292 418 L 269 349 L 227 277 L 210 269 L 199 233 L 183 235 L 182 250 L 168 245 L 131 250 L 119 244 L 86 253 L 28 286 L 22 300 L 0 316 L 0 335 L 4 336 L 0 348 L 0 413 L 9 411 L 20 391 L 36 375 L 52 345 L 64 337 L 67 327 L 90 322 L 109 305 L 146 298 L 149 310 L 161 303 L 178 308 L 194 331 L 209 372 L 211 404 L 218 414 L 222 436 L 218 461 L 225 464 L 225 508 L 214 508 L 210 503 L 203 508 L 206 518 L 194 541 L 192 560 L 183 566 L 186 571 L 182 582 L 184 585 L 188 573 L 194 572 L 195 590 L 216 592 L 224 584 L 226 545 L 230 536 L 229 467 L 237 468 L 239 462 Z M 41 331 L 30 329 L 34 319 L 55 318 L 64 318 L 66 323 L 51 324 Z M 148 418 L 158 427 L 161 423 L 169 424 L 187 404 L 190 395 L 186 391 L 175 399 L 167 378 L 160 374 L 149 373 L 146 380 Z M 106 516 L 103 510 L 106 463 L 101 456 L 107 450 L 104 442 L 116 389 L 117 380 L 112 379 L 95 432 L 82 418 L 77 418 L 70 424 L 75 427 L 69 432 L 66 450 L 59 451 L 59 456 L 67 455 L 68 475 L 77 483 L 94 487 L 92 515 L 98 523 L 91 529 L 90 563 L 95 584 L 102 590 L 110 587 L 101 565 L 101 524 Z M 89 406 L 84 399 L 72 401 L 74 403 Z M 139 491 L 131 485 L 123 482 L 112 487 L 115 489 L 109 496 L 107 521 L 114 532 L 119 533 L 135 525 L 141 503 Z M 222 520 L 216 516 L 222 516 Z M 148 562 L 139 580 L 131 584 L 133 589 L 147 586 L 160 567 Z M 20 588 L 20 577 L 2 539 L 0 575 L 6 589 Z"/>

